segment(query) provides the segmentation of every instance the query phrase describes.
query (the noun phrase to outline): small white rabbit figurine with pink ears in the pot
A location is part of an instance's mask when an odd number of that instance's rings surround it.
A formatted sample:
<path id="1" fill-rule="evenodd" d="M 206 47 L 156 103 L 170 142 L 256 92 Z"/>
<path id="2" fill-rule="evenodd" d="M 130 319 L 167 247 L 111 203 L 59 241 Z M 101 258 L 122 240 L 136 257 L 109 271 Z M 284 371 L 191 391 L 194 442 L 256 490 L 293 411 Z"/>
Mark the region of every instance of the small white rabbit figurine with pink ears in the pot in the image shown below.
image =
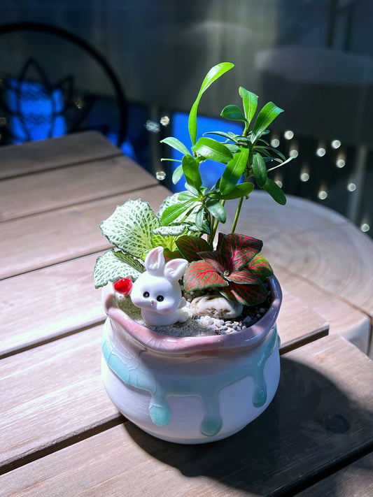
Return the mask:
<path id="1" fill-rule="evenodd" d="M 185 259 L 165 264 L 162 247 L 150 250 L 145 259 L 146 271 L 134 282 L 130 293 L 146 323 L 162 326 L 188 319 L 188 313 L 181 309 L 186 301 L 178 284 L 187 266 Z"/>

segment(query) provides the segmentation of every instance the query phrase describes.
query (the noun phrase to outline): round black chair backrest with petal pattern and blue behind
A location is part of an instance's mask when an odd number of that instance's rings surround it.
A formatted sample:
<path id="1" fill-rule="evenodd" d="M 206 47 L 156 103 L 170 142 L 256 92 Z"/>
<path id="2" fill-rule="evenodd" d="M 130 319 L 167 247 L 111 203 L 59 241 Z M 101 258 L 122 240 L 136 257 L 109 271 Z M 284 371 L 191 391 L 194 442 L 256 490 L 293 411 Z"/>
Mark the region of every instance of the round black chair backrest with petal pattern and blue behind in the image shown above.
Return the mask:
<path id="1" fill-rule="evenodd" d="M 7 35 L 7 36 L 5 36 Z M 0 26 L 0 144 L 82 129 L 127 134 L 127 101 L 106 59 L 64 29 Z"/>

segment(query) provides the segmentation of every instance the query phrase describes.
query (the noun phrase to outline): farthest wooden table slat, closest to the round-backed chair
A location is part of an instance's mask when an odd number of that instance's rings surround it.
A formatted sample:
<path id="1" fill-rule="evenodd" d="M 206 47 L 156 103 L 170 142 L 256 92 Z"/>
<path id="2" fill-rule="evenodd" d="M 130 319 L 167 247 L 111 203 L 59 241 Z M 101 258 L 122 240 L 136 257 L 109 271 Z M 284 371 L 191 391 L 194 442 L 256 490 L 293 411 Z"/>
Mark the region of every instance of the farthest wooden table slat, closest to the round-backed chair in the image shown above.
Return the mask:
<path id="1" fill-rule="evenodd" d="M 122 154 L 96 131 L 84 131 L 23 145 L 6 145 L 1 147 L 0 152 L 0 179 Z"/>

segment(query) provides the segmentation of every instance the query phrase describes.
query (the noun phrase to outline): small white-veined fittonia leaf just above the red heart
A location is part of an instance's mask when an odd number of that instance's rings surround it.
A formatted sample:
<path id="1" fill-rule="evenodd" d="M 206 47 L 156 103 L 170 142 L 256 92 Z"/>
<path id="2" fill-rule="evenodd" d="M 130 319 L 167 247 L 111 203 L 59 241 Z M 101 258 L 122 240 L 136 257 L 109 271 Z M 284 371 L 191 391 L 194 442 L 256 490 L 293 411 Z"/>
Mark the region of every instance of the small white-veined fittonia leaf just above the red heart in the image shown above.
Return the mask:
<path id="1" fill-rule="evenodd" d="M 94 286 L 104 287 L 109 281 L 117 281 L 120 278 L 131 278 L 136 280 L 143 273 L 143 265 L 123 252 L 115 252 L 114 249 L 97 257 L 94 266 Z"/>

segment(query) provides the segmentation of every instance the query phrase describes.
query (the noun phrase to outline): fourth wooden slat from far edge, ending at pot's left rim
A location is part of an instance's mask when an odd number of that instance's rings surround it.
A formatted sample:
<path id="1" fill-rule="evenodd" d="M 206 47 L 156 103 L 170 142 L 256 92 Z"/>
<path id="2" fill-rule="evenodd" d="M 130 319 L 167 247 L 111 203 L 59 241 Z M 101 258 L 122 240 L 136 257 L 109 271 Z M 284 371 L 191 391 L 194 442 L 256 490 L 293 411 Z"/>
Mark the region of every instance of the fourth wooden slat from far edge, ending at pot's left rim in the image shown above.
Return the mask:
<path id="1" fill-rule="evenodd" d="M 93 282 L 99 254 L 0 281 L 0 357 L 104 321 Z"/>

